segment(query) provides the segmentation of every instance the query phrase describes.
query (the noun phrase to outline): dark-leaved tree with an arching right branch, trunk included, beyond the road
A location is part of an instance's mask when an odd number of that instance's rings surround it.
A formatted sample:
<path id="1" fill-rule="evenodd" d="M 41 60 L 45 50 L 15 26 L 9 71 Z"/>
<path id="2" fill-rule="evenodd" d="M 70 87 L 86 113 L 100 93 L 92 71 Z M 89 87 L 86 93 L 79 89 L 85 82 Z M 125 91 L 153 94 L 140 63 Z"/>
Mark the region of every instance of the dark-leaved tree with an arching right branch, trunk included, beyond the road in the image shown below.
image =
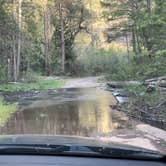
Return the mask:
<path id="1" fill-rule="evenodd" d="M 84 29 L 84 5 L 81 0 L 63 0 L 55 1 L 55 8 L 57 12 L 53 21 L 55 31 L 52 39 L 60 53 L 61 71 L 65 72 L 65 68 L 69 68 L 73 62 L 75 37 Z"/>

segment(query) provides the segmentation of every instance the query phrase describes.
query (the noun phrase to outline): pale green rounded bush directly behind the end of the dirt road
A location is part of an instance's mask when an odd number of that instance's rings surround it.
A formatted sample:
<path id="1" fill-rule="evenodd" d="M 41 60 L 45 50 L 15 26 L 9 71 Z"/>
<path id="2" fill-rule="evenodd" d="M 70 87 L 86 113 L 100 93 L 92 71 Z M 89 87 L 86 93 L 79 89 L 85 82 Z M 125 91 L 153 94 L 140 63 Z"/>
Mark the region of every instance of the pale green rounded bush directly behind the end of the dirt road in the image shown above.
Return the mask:
<path id="1" fill-rule="evenodd" d="M 126 52 L 118 52 L 114 48 L 109 50 L 95 49 L 90 46 L 84 52 L 84 56 L 77 59 L 73 68 L 73 74 L 77 75 L 100 75 L 109 73 L 111 70 L 116 72 L 120 59 Z M 120 58 L 121 57 L 121 58 Z"/>

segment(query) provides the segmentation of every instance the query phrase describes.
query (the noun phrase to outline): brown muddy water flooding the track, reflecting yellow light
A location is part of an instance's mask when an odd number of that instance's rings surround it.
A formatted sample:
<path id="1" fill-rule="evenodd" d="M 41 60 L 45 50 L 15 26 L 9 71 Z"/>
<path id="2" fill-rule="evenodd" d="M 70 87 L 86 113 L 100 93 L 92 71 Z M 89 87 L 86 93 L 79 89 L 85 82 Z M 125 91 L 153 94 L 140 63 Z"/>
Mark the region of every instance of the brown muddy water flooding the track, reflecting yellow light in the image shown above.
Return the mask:
<path id="1" fill-rule="evenodd" d="M 115 127 L 110 92 L 99 88 L 43 91 L 24 98 L 0 134 L 49 134 L 96 136 Z M 25 103 L 26 102 L 26 106 Z M 115 121 L 115 119 L 114 119 Z"/>

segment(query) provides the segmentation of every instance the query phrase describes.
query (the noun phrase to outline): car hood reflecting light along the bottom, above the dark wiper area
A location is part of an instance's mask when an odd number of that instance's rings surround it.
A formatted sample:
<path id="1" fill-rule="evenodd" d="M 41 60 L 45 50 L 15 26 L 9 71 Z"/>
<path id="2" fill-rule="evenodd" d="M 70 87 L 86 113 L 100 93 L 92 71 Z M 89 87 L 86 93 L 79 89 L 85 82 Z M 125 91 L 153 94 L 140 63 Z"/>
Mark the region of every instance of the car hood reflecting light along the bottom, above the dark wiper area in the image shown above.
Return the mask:
<path id="1" fill-rule="evenodd" d="M 97 138 L 75 136 L 46 136 L 46 135 L 5 135 L 0 136 L 0 145 L 84 145 L 95 147 L 116 147 L 133 150 L 147 150 L 136 146 L 102 141 Z"/>

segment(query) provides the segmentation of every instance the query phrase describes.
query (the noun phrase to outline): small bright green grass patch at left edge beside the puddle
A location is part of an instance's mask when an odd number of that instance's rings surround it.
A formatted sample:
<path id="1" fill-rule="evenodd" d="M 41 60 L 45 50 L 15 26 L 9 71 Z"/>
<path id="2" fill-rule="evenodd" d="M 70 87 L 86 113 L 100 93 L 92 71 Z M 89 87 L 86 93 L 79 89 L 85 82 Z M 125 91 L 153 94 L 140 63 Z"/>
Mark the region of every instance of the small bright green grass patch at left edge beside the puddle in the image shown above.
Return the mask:
<path id="1" fill-rule="evenodd" d="M 0 99 L 0 125 L 4 124 L 10 117 L 11 113 L 13 113 L 15 110 L 15 104 L 5 105 L 4 102 Z"/>

